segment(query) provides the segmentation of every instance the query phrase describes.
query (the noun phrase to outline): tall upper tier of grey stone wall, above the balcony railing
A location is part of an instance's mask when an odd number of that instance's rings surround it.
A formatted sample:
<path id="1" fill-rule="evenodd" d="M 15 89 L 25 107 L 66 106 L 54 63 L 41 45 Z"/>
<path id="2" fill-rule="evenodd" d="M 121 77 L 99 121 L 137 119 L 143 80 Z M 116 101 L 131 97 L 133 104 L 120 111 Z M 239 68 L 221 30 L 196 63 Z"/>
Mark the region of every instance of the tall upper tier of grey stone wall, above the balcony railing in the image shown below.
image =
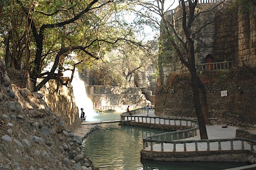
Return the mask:
<path id="1" fill-rule="evenodd" d="M 211 9 L 215 3 L 200 3 L 197 5 L 197 11 Z M 243 61 L 247 65 L 254 66 L 256 63 L 256 7 L 252 4 L 248 10 L 244 9 L 226 9 L 222 10 L 213 23 L 203 27 L 197 34 L 193 35 L 195 40 L 195 61 L 196 65 L 205 62 L 205 57 L 210 55 L 213 62 L 236 61 L 237 66 L 242 66 Z M 177 7 L 175 13 L 168 15 L 177 26 L 176 30 L 184 39 L 182 29 L 181 9 Z M 217 14 L 217 13 L 216 13 Z M 216 15 L 215 14 L 215 15 Z M 192 31 L 199 30 L 206 22 L 209 22 L 209 16 L 200 15 L 195 19 Z M 164 34 L 160 39 L 164 40 Z M 186 73 L 188 69 L 179 60 L 169 42 L 163 42 L 163 52 L 159 56 L 159 71 L 162 83 L 170 73 Z"/>

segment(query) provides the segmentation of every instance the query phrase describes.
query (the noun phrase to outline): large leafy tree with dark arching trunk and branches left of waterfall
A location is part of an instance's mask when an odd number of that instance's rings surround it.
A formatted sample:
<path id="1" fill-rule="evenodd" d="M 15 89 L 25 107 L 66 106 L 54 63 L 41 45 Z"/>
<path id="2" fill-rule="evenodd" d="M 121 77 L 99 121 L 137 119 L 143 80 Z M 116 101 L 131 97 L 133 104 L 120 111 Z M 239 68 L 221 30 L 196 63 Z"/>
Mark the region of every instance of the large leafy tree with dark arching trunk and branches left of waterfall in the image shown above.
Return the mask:
<path id="1" fill-rule="evenodd" d="M 35 92 L 51 79 L 68 84 L 72 78 L 61 80 L 67 61 L 74 71 L 77 64 L 101 60 L 113 44 L 126 41 L 141 45 L 134 39 L 134 28 L 115 19 L 125 1 L 15 2 L 26 16 L 34 39 L 30 77 Z M 51 69 L 44 70 L 49 63 L 53 63 Z M 38 83 L 38 78 L 43 80 Z"/>

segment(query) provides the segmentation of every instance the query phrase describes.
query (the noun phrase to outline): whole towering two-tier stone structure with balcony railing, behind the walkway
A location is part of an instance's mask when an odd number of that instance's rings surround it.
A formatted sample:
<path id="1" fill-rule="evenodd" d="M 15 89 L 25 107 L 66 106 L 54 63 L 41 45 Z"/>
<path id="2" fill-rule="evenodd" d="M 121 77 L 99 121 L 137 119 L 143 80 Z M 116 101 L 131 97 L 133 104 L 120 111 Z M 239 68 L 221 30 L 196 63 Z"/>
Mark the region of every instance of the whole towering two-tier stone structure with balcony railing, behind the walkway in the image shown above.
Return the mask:
<path id="1" fill-rule="evenodd" d="M 212 9 L 217 2 L 199 1 L 196 12 Z M 217 14 L 214 22 L 193 37 L 197 71 L 207 89 L 209 118 L 214 118 L 217 123 L 255 126 L 255 9 L 253 4 L 247 10 L 227 6 Z M 212 13 L 199 16 L 192 27 L 198 30 L 207 23 Z M 180 6 L 167 14 L 168 20 L 175 23 L 176 30 L 182 36 Z M 160 39 L 165 39 L 163 34 Z M 163 53 L 159 56 L 156 115 L 195 117 L 188 69 L 168 42 L 163 42 L 163 47 Z M 227 92 L 227 96 L 221 96 L 224 92 Z"/>

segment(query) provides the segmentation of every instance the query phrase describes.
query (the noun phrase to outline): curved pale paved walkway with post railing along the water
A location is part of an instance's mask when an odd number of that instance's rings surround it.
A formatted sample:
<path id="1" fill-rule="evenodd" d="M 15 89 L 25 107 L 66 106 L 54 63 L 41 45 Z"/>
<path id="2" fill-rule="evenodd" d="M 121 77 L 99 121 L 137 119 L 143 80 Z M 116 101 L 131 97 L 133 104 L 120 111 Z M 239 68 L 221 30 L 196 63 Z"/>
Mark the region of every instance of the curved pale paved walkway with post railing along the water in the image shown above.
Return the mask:
<path id="1" fill-rule="evenodd" d="M 256 141 L 236 138 L 237 127 L 207 126 L 209 139 L 201 140 L 199 130 L 195 132 L 197 122 L 194 119 L 160 118 L 156 117 L 154 110 L 150 111 L 149 117 L 146 117 L 144 108 L 123 113 L 121 119 L 140 125 L 141 123 L 152 123 L 158 126 L 168 125 L 185 129 L 144 137 L 142 159 L 256 163 Z"/>

